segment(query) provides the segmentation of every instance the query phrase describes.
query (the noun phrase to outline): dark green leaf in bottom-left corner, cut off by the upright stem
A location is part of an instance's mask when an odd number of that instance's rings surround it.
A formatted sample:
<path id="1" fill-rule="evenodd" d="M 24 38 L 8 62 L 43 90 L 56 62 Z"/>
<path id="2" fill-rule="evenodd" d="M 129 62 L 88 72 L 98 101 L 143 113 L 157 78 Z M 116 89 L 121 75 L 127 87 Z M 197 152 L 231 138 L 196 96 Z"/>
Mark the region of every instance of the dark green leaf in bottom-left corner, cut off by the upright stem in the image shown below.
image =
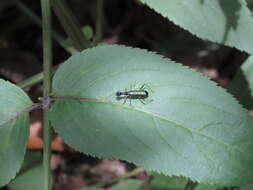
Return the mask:
<path id="1" fill-rule="evenodd" d="M 43 166 L 34 167 L 19 175 L 8 186 L 11 190 L 43 190 Z"/>

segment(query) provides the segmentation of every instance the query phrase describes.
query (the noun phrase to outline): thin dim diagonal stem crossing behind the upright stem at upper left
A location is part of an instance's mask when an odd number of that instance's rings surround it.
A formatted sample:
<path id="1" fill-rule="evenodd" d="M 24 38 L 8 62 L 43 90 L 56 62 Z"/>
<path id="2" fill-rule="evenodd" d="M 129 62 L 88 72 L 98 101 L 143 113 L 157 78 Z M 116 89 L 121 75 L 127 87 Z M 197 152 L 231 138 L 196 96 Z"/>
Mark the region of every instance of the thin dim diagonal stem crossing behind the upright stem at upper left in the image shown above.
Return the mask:
<path id="1" fill-rule="evenodd" d="M 34 12 L 32 12 L 22 1 L 15 0 L 14 2 L 17 5 L 17 7 L 24 14 L 26 14 L 38 27 L 42 26 L 42 22 L 40 18 L 36 14 L 34 14 Z M 78 52 L 75 48 L 67 45 L 64 38 L 57 32 L 53 31 L 52 35 L 53 35 L 53 38 L 60 44 L 60 46 L 62 46 L 70 54 L 75 54 Z"/>

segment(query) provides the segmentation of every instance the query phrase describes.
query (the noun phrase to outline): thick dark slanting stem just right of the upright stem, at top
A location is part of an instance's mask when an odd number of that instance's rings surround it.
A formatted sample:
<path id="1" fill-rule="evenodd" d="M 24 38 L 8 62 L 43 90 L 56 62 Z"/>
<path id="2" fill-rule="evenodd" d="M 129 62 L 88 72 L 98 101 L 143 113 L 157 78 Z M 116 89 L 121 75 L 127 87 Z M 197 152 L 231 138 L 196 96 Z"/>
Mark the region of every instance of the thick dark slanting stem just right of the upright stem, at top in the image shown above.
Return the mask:
<path id="1" fill-rule="evenodd" d="M 65 0 L 53 0 L 52 2 L 54 12 L 62 23 L 69 38 L 72 40 L 75 48 L 81 51 L 90 47 L 90 41 L 82 33 L 78 20 L 75 18 Z"/>

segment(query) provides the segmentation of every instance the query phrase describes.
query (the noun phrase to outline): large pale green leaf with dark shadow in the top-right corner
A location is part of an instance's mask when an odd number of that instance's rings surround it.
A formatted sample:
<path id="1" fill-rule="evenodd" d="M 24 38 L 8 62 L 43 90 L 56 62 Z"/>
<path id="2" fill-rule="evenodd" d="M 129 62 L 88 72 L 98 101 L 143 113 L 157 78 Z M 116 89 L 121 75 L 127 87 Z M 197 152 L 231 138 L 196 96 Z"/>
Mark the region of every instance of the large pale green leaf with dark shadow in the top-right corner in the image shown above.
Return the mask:
<path id="1" fill-rule="evenodd" d="M 141 0 L 202 39 L 253 53 L 253 19 L 244 0 Z"/>

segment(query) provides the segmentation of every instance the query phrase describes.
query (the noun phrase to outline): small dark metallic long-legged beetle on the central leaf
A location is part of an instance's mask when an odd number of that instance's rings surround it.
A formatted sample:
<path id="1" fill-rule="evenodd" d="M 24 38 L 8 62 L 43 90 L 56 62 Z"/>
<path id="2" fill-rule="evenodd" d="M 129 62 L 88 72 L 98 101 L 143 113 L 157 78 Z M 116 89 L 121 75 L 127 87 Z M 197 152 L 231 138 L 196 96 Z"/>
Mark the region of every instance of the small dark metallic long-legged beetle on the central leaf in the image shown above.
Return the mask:
<path id="1" fill-rule="evenodd" d="M 127 89 L 125 89 L 124 92 L 116 92 L 116 97 L 117 100 L 121 100 L 124 99 L 124 103 L 126 103 L 127 99 L 129 99 L 130 101 L 130 105 L 132 105 L 131 101 L 132 99 L 138 99 L 142 104 L 146 104 L 145 103 L 145 99 L 147 99 L 149 96 L 148 91 L 145 88 L 145 84 L 143 84 L 139 89 L 137 90 L 129 90 L 127 91 Z"/>

